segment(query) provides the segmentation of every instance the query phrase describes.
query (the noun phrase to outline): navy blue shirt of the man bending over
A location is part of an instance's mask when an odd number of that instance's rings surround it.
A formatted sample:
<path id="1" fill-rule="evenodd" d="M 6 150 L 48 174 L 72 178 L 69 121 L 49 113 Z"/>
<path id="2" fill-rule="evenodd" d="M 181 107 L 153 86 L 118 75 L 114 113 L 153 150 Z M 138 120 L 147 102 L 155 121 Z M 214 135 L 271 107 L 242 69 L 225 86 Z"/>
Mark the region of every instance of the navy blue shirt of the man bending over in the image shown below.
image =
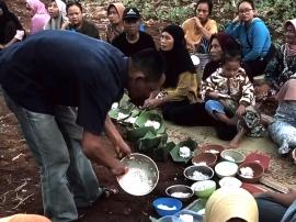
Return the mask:
<path id="1" fill-rule="evenodd" d="M 126 77 L 127 59 L 118 49 L 68 31 L 37 33 L 0 54 L 0 84 L 34 112 L 53 113 L 61 104 L 79 107 L 83 118 L 104 115 Z"/>

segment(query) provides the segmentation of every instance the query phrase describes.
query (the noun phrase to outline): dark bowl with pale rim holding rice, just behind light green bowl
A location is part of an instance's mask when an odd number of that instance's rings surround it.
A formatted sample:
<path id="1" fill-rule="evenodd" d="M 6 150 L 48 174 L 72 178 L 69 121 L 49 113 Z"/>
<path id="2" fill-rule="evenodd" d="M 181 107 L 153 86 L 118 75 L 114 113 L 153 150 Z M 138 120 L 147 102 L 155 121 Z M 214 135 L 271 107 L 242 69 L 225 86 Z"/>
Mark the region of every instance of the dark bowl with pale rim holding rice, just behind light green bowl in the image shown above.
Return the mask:
<path id="1" fill-rule="evenodd" d="M 194 178 L 194 173 L 195 171 L 198 171 L 207 177 L 204 177 L 204 178 Z M 214 176 L 214 170 L 208 167 L 208 166 L 190 166 L 187 168 L 184 169 L 184 177 L 186 177 L 187 179 L 190 180 L 193 180 L 193 181 L 203 181 L 203 180 L 207 180 L 207 179 L 210 179 L 212 177 Z"/>

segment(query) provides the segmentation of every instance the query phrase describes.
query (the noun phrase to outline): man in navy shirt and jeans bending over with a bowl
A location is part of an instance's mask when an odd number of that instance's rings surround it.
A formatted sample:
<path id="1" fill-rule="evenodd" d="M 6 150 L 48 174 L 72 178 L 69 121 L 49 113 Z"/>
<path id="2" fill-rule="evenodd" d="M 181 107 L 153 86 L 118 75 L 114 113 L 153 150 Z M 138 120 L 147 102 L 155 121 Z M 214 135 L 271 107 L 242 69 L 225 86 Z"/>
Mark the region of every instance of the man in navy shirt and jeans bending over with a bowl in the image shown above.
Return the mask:
<path id="1" fill-rule="evenodd" d="M 132 100 L 143 100 L 163 81 L 155 49 L 127 58 L 107 43 L 70 32 L 44 31 L 0 52 L 0 84 L 41 167 L 50 220 L 76 221 L 77 208 L 104 195 L 88 158 L 116 176 L 126 173 L 103 144 L 105 132 L 118 155 L 130 153 L 107 112 L 124 88 Z M 69 107 L 78 108 L 78 116 Z"/>

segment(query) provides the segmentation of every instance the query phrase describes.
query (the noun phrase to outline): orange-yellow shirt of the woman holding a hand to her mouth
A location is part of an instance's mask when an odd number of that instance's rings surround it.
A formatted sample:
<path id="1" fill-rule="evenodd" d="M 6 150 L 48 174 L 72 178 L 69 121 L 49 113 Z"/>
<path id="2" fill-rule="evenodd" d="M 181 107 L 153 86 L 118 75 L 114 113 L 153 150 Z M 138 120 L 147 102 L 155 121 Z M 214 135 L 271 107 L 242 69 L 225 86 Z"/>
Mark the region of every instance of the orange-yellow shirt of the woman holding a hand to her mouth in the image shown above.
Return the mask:
<path id="1" fill-rule="evenodd" d="M 193 45 L 198 45 L 202 41 L 203 33 L 196 26 L 195 20 L 193 18 L 187 19 L 183 24 L 182 27 L 185 33 L 185 40 L 187 43 L 187 47 L 190 51 L 193 49 Z M 210 32 L 212 34 L 218 32 L 217 23 L 215 20 L 208 19 L 207 22 L 204 24 L 204 27 Z"/>

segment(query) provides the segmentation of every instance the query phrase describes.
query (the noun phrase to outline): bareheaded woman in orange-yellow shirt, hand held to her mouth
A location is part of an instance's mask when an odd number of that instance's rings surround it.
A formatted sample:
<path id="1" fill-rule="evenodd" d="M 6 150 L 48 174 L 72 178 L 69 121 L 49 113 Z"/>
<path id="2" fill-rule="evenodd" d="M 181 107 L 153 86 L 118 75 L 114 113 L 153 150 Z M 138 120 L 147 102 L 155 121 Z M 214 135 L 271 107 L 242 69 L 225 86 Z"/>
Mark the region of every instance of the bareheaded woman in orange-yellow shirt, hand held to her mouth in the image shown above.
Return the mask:
<path id="1" fill-rule="evenodd" d="M 218 32 L 216 21 L 209 19 L 212 10 L 213 3 L 210 0 L 200 0 L 196 4 L 196 15 L 182 24 L 187 48 L 191 52 L 208 53 L 209 38 L 212 34 Z"/>

